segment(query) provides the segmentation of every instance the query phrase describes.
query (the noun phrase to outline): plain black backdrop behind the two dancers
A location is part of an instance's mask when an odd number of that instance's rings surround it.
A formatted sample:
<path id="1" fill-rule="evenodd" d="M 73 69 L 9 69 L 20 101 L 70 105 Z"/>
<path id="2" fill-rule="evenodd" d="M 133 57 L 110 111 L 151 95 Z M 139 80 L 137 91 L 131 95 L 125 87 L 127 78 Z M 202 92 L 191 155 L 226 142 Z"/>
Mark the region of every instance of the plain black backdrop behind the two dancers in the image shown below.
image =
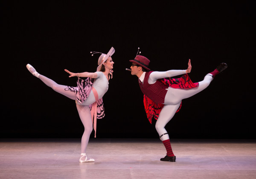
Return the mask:
<path id="1" fill-rule="evenodd" d="M 81 137 L 75 102 L 33 77 L 26 64 L 75 86 L 64 68 L 94 72 L 99 55 L 90 51 L 107 53 L 111 46 L 114 73 L 97 137 L 158 137 L 137 77 L 125 71 L 138 47 L 154 71 L 186 69 L 191 59 L 193 82 L 221 62 L 229 65 L 207 89 L 183 100 L 166 126 L 170 137 L 256 137 L 253 1 L 2 1 L 0 8 L 2 138 Z"/>

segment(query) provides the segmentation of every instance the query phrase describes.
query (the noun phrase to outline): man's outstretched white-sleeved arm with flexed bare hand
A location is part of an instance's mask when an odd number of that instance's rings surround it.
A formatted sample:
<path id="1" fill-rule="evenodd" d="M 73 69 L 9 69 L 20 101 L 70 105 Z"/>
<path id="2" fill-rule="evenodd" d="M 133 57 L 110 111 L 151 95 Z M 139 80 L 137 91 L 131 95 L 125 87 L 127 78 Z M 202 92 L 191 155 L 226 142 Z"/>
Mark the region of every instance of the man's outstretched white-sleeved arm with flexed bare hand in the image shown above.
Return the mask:
<path id="1" fill-rule="evenodd" d="M 153 84 L 156 80 L 161 78 L 175 77 L 177 75 L 190 73 L 192 69 L 191 62 L 189 59 L 188 69 L 186 70 L 169 70 L 169 71 L 153 71 L 148 78 L 148 83 Z"/>

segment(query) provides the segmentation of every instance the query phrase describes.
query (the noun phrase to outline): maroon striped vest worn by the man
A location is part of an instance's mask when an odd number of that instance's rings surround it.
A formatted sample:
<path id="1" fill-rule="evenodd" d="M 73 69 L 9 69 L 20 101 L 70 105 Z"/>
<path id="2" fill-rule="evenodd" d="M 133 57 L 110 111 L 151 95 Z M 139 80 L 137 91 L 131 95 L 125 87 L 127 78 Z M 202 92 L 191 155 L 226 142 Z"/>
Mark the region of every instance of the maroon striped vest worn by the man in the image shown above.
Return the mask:
<path id="1" fill-rule="evenodd" d="M 166 89 L 169 85 L 161 82 L 161 79 L 158 79 L 154 84 L 148 84 L 148 78 L 152 72 L 153 71 L 146 72 L 143 83 L 139 79 L 140 89 L 146 97 L 150 98 L 155 103 L 163 104 L 167 93 Z"/>

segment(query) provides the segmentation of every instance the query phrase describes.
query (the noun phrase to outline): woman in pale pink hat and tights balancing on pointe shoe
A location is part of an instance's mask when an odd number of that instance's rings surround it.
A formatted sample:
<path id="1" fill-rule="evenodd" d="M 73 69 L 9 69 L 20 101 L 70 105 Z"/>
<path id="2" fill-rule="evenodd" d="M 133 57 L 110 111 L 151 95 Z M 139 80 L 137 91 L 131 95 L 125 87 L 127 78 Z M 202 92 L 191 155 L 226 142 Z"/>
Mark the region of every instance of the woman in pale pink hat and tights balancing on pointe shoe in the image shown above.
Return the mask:
<path id="1" fill-rule="evenodd" d="M 70 99 L 76 100 L 76 108 L 81 122 L 84 125 L 84 134 L 81 139 L 80 163 L 95 161 L 94 159 L 90 159 L 86 156 L 86 148 L 93 128 L 95 130 L 96 137 L 96 119 L 100 119 L 105 116 L 102 97 L 108 91 L 108 80 L 112 78 L 114 62 L 111 56 L 114 52 L 115 49 L 112 47 L 108 54 L 101 53 L 98 60 L 99 66 L 97 67 L 97 71 L 94 73 L 72 73 L 65 69 L 65 71 L 70 74 L 69 77 L 78 77 L 77 87 L 59 85 L 53 80 L 39 74 L 32 65 L 26 65 L 28 70 L 35 77 L 38 77 L 54 91 L 57 91 Z M 95 54 L 100 52 L 91 53 Z M 87 79 L 82 80 L 80 77 L 87 77 Z"/>

